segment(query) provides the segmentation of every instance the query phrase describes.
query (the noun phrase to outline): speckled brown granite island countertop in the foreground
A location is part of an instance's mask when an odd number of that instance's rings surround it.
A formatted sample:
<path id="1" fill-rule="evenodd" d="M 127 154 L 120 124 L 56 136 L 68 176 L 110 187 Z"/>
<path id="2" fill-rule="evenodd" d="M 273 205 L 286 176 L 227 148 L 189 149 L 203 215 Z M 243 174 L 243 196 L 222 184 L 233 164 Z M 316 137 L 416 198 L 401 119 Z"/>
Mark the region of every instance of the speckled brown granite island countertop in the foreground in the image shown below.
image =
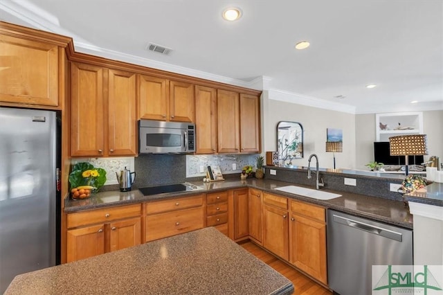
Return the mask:
<path id="1" fill-rule="evenodd" d="M 293 284 L 213 227 L 16 276 L 13 294 L 292 294 Z"/>

